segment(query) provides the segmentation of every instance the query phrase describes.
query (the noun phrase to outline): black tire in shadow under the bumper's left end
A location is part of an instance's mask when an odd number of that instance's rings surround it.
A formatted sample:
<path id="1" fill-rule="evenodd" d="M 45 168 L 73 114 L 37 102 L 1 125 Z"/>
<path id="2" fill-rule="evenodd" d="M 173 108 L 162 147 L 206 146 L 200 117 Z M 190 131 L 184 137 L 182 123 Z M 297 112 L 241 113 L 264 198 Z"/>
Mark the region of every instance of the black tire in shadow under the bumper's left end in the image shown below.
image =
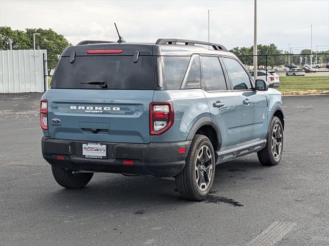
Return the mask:
<path id="1" fill-rule="evenodd" d="M 85 187 L 94 175 L 94 173 L 72 174 L 72 170 L 65 170 L 54 166 L 51 166 L 51 171 L 56 182 L 67 189 L 80 189 Z"/>

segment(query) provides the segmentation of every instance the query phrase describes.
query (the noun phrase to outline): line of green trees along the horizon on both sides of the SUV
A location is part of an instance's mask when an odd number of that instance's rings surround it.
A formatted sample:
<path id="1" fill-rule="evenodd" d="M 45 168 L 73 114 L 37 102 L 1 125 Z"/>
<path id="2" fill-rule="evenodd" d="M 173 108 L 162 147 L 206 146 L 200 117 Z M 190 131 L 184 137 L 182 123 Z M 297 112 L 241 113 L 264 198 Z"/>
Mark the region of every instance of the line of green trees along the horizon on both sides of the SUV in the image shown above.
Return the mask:
<path id="1" fill-rule="evenodd" d="M 47 50 L 48 60 L 58 60 L 59 55 L 63 50 L 71 44 L 67 39 L 52 29 L 42 28 L 26 28 L 22 30 L 12 30 L 10 27 L 0 27 L 0 50 L 9 50 L 9 38 L 12 40 L 12 48 L 14 50 L 26 50 L 33 49 L 33 33 L 40 33 L 35 36 L 35 48 Z M 267 54 L 267 66 L 278 66 L 289 63 L 289 54 L 287 51 L 279 50 L 275 44 L 270 45 L 257 45 L 258 54 Z M 230 52 L 239 56 L 243 64 L 253 66 L 253 46 L 251 47 L 235 47 Z M 290 63 L 299 64 L 299 57 L 304 57 L 303 63 L 305 63 L 305 55 L 309 54 L 310 50 L 305 49 L 300 54 L 290 54 Z M 329 53 L 327 51 L 321 51 L 318 58 L 322 58 L 323 63 L 329 63 L 329 55 L 322 55 L 323 53 Z M 285 54 L 285 55 L 282 55 Z M 306 55 L 309 62 L 309 55 Z M 56 61 L 48 62 L 48 68 L 54 68 Z M 258 67 L 266 66 L 266 56 L 258 56 Z"/>

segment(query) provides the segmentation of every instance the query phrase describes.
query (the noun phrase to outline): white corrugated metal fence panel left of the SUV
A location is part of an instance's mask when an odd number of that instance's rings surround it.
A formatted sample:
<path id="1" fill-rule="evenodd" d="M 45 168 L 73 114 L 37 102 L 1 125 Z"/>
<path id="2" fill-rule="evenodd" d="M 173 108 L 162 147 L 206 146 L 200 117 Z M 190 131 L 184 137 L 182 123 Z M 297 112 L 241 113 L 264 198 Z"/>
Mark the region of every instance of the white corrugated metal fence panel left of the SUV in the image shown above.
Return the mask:
<path id="1" fill-rule="evenodd" d="M 47 50 L 0 50 L 0 93 L 44 92 L 44 57 Z"/>

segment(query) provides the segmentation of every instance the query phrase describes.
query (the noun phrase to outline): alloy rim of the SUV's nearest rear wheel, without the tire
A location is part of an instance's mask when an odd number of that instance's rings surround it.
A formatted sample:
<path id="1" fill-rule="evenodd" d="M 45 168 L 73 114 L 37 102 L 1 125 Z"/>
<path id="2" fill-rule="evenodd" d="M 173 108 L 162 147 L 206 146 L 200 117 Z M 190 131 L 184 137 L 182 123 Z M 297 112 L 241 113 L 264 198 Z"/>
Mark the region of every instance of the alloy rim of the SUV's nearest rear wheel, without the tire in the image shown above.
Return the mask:
<path id="1" fill-rule="evenodd" d="M 201 191 L 207 190 L 212 176 L 212 156 L 208 146 L 198 150 L 195 161 L 195 179 Z"/>

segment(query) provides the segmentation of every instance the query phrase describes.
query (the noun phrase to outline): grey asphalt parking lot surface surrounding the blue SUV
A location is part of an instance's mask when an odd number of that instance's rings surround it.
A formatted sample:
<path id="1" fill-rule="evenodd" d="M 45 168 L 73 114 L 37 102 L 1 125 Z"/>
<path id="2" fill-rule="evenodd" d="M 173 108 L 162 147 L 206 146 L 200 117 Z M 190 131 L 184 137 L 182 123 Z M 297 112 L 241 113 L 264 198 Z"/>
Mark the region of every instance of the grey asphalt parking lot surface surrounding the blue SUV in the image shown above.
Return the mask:
<path id="1" fill-rule="evenodd" d="M 223 163 L 204 202 L 154 177 L 61 188 L 41 155 L 40 97 L 0 95 L 0 245 L 329 245 L 329 96 L 284 97 L 280 164 Z"/>

